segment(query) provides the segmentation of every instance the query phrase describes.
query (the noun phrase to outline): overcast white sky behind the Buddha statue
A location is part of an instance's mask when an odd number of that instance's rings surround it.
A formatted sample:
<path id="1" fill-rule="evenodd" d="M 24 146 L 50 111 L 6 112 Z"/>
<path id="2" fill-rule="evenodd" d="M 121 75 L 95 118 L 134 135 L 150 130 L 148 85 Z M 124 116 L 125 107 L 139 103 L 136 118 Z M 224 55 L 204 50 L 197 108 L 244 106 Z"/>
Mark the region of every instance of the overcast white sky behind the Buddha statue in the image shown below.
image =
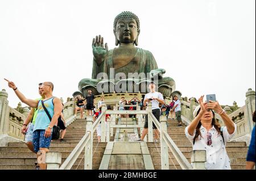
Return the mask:
<path id="1" fill-rule="evenodd" d="M 0 0 L 0 89 L 10 106 L 19 100 L 3 78 L 28 98 L 39 97 L 44 81 L 54 83 L 55 96 L 72 96 L 91 78 L 93 37 L 115 47 L 113 21 L 122 11 L 139 17 L 139 47 L 183 96 L 216 94 L 221 104 L 243 106 L 247 89 L 255 90 L 255 0 Z"/>

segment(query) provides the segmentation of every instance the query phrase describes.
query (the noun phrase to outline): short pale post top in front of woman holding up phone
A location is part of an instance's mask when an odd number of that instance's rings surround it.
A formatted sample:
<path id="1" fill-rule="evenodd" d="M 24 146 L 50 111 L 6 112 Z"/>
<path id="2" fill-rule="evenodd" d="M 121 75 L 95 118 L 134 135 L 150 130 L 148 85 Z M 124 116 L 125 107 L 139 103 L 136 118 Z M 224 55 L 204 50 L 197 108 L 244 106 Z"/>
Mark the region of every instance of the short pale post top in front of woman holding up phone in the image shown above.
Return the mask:
<path id="1" fill-rule="evenodd" d="M 206 159 L 206 151 L 205 150 L 193 150 L 191 156 L 191 163 L 193 163 L 194 170 L 206 170 L 205 162 Z"/>

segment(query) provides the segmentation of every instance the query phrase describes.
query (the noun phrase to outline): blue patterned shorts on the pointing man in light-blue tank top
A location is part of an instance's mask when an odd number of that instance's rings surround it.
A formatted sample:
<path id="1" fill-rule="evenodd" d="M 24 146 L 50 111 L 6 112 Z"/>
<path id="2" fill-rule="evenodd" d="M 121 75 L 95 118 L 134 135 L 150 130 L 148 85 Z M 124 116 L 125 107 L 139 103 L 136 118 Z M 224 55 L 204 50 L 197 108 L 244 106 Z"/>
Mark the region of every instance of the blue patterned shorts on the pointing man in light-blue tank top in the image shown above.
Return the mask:
<path id="1" fill-rule="evenodd" d="M 45 129 L 37 129 L 33 132 L 33 145 L 35 153 L 38 153 L 40 148 L 49 148 L 51 144 L 52 134 L 50 137 L 44 137 Z"/>

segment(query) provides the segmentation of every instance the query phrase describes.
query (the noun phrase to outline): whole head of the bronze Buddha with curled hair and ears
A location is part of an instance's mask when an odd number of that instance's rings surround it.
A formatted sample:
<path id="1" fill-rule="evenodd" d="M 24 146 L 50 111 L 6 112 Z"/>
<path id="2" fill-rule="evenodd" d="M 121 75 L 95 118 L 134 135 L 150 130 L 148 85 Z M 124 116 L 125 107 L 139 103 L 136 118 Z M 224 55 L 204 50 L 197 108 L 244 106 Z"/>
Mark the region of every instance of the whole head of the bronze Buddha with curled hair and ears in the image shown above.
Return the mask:
<path id="1" fill-rule="evenodd" d="M 115 45 L 133 43 L 138 46 L 139 32 L 139 18 L 133 12 L 123 11 L 115 17 Z"/>

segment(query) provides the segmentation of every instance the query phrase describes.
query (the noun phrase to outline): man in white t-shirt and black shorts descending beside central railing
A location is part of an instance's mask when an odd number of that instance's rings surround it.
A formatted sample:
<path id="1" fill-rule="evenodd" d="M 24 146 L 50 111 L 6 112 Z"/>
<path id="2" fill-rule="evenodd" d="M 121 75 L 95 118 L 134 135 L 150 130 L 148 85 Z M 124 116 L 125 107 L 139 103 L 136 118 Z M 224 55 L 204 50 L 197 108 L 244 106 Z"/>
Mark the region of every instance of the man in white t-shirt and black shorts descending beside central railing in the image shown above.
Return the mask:
<path id="1" fill-rule="evenodd" d="M 145 95 L 143 105 L 147 106 L 148 102 L 151 102 L 152 103 L 152 113 L 155 116 L 155 118 L 160 122 L 159 103 L 164 104 L 163 95 L 160 92 L 155 91 L 155 83 L 154 82 L 151 82 L 149 84 L 149 88 L 150 88 L 150 92 Z M 154 123 L 153 123 L 153 129 L 155 130 L 155 142 L 158 142 L 160 133 Z M 148 115 L 145 116 L 144 129 L 142 132 L 142 136 L 141 136 L 141 138 L 139 138 L 138 141 L 143 141 L 144 137 L 146 136 L 147 133 L 148 133 Z"/>

